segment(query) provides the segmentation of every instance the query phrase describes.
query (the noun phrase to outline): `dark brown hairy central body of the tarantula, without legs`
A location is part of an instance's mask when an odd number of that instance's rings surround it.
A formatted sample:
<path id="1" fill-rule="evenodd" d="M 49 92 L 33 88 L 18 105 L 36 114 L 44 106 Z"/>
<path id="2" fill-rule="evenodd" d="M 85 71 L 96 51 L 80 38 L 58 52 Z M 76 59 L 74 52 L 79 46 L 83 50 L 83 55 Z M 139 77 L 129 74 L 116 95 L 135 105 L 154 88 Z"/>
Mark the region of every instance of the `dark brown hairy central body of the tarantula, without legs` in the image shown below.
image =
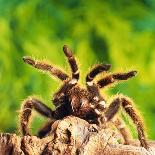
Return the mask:
<path id="1" fill-rule="evenodd" d="M 55 118 L 58 119 L 74 115 L 94 122 L 99 117 L 99 114 L 94 110 L 95 102 L 93 102 L 91 94 L 87 90 L 81 89 L 78 85 L 72 88 L 66 87 L 66 91 L 64 92 L 63 90 L 63 93 L 60 91 L 54 96 L 53 103 L 56 107 L 60 104 L 60 107 L 57 107 L 55 111 Z"/>

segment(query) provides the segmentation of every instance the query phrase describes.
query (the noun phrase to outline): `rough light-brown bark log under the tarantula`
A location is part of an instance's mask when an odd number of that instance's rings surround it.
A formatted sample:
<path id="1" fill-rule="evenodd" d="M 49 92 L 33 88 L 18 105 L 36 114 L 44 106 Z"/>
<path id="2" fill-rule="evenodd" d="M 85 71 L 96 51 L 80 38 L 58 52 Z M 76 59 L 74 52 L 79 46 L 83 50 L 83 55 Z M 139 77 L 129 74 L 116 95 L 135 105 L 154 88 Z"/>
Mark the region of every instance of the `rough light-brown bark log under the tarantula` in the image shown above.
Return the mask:
<path id="1" fill-rule="evenodd" d="M 150 149 L 118 143 L 119 135 L 111 129 L 99 130 L 85 120 L 70 116 L 55 122 L 51 133 L 42 139 L 0 134 L 0 155 L 155 155 L 155 142 Z"/>

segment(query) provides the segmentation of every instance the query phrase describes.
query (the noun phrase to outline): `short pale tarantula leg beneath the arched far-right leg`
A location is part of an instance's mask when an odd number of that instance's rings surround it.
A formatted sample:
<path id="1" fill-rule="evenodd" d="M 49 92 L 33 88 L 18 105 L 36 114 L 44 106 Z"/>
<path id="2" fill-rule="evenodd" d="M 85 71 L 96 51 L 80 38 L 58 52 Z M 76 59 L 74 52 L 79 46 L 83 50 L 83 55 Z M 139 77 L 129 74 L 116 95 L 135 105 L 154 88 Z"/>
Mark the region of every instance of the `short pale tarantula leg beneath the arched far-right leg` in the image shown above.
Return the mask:
<path id="1" fill-rule="evenodd" d="M 113 121 L 113 124 L 116 126 L 116 128 L 118 129 L 118 131 L 122 135 L 123 140 L 124 140 L 124 144 L 125 145 L 130 144 L 129 140 L 131 139 L 131 135 L 130 135 L 130 132 L 126 129 L 123 120 L 121 120 L 120 118 L 116 118 Z"/>

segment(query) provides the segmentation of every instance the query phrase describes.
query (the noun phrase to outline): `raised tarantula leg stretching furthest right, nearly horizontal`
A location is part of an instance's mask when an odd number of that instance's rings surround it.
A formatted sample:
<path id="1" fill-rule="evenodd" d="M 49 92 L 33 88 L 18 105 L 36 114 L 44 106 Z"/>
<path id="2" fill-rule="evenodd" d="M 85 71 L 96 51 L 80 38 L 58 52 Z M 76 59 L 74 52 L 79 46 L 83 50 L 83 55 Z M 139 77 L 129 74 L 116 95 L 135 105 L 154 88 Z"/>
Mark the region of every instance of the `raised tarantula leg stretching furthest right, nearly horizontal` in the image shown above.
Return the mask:
<path id="1" fill-rule="evenodd" d="M 115 83 L 120 80 L 128 80 L 129 78 L 134 77 L 137 74 L 137 71 L 130 71 L 127 73 L 116 73 L 116 74 L 110 74 L 103 79 L 99 80 L 97 82 L 97 85 L 99 88 L 103 88 L 109 84 Z"/>

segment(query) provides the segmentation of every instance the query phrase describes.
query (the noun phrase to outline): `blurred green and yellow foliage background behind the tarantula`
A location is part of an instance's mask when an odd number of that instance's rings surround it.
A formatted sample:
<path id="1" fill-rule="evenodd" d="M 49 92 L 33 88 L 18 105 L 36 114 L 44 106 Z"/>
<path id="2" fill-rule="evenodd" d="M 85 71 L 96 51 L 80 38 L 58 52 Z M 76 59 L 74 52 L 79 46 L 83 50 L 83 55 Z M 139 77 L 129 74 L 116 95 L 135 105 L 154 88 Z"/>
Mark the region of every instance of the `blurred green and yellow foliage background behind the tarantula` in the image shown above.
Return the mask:
<path id="1" fill-rule="evenodd" d="M 51 96 L 61 82 L 24 64 L 22 57 L 48 59 L 69 72 L 64 44 L 79 62 L 82 85 L 95 63 L 111 63 L 114 72 L 138 70 L 136 78 L 103 93 L 107 99 L 117 93 L 133 98 L 148 137 L 155 139 L 155 0 L 0 0 L 0 132 L 18 133 L 27 96 L 42 96 L 53 107 Z M 33 133 L 45 120 L 35 116 Z"/>

